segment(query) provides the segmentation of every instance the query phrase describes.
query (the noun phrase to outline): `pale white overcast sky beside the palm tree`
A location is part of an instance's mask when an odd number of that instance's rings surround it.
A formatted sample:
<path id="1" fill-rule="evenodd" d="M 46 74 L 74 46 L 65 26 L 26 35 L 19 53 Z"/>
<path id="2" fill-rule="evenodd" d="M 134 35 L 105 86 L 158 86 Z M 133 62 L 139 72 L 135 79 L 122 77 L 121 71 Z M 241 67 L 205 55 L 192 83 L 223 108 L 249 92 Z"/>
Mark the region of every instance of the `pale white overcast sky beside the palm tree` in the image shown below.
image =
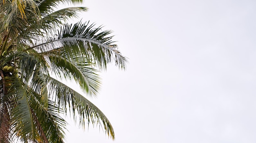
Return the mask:
<path id="1" fill-rule="evenodd" d="M 68 143 L 255 143 L 255 0 L 85 0 L 129 58 L 90 98 L 115 130 L 67 126 Z M 71 85 L 76 88 L 76 86 Z"/>

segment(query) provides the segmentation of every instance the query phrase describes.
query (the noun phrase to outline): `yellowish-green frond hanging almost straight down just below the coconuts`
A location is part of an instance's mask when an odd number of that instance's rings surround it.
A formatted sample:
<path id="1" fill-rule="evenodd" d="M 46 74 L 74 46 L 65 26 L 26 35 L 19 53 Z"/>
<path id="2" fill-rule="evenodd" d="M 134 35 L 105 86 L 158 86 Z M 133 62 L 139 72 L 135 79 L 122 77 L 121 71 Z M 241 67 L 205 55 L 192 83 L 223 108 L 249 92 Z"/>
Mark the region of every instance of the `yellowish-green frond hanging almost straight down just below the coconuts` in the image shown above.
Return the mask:
<path id="1" fill-rule="evenodd" d="M 9 104 L 9 108 L 11 109 L 11 128 L 14 134 L 20 137 L 22 141 L 34 139 L 33 117 L 26 92 L 27 89 L 23 87 L 22 82 L 16 78 L 13 80 L 13 89 L 7 93 L 7 97 L 11 99 L 11 104 Z"/>

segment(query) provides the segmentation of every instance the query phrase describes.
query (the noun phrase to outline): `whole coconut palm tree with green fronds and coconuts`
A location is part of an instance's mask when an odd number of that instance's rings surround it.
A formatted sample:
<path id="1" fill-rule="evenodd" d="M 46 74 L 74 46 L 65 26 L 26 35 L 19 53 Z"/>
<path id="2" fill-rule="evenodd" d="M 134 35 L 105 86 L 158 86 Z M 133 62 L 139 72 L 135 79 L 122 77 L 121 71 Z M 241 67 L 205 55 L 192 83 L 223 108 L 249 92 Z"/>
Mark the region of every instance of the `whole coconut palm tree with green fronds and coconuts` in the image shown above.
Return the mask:
<path id="1" fill-rule="evenodd" d="M 83 0 L 0 1 L 0 141 L 63 143 L 70 112 L 79 124 L 97 124 L 115 139 L 107 117 L 83 95 L 61 82 L 74 80 L 97 95 L 99 71 L 115 62 L 126 68 L 110 30 L 89 22 L 64 24 L 85 7 L 55 10 Z M 55 75 L 57 78 L 54 78 Z"/>

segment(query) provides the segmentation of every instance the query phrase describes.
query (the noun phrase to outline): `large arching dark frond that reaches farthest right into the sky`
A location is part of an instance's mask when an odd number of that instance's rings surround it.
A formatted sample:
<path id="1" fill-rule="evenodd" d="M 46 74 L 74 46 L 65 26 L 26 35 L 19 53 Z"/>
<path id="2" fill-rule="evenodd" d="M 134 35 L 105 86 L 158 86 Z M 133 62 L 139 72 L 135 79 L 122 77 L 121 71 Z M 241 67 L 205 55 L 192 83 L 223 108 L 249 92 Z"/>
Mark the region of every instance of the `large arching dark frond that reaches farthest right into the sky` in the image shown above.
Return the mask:
<path id="1" fill-rule="evenodd" d="M 127 59 L 117 50 L 117 45 L 113 44 L 111 31 L 101 31 L 101 27 L 94 28 L 95 24 L 78 22 L 74 25 L 65 24 L 58 31 L 58 37 L 48 39 L 45 43 L 35 45 L 29 49 L 36 49 L 47 52 L 56 48 L 61 48 L 66 52 L 80 52 L 87 61 L 93 63 L 101 69 L 106 69 L 108 63 L 115 62 L 121 68 L 126 68 Z M 92 61 L 93 60 L 93 61 Z"/>

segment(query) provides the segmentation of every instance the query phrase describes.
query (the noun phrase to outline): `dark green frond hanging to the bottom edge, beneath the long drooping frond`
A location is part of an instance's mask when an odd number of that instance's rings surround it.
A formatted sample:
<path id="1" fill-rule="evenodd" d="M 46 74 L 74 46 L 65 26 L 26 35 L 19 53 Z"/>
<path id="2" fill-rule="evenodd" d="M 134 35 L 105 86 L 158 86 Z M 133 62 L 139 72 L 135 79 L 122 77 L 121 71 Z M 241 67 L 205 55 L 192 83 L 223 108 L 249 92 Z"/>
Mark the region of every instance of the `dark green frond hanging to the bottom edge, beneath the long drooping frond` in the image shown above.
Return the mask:
<path id="1" fill-rule="evenodd" d="M 40 94 L 31 93 L 31 110 L 36 129 L 43 141 L 44 138 L 53 143 L 63 143 L 65 120 L 58 113 L 61 111 L 52 101 L 48 101 L 47 108 L 40 102 Z"/>

